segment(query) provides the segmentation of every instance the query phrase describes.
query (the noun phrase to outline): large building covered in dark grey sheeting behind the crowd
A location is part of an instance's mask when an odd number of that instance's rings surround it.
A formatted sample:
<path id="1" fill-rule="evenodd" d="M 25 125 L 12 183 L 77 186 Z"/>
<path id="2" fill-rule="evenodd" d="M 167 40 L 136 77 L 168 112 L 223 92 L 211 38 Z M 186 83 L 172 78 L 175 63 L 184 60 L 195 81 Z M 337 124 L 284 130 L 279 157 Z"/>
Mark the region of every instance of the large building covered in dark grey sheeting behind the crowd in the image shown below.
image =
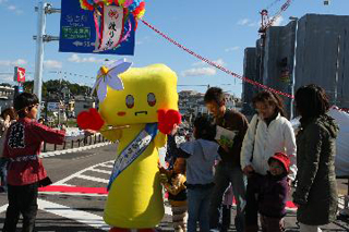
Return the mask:
<path id="1" fill-rule="evenodd" d="M 348 32 L 347 15 L 305 14 L 286 26 L 269 27 L 264 47 L 257 41 L 255 57 L 253 48 L 245 50 L 244 76 L 290 95 L 300 86 L 317 84 L 332 105 L 349 108 Z M 250 113 L 248 105 L 255 93 L 248 85 L 243 84 L 242 99 L 244 112 Z M 292 100 L 282 98 L 290 115 Z"/>

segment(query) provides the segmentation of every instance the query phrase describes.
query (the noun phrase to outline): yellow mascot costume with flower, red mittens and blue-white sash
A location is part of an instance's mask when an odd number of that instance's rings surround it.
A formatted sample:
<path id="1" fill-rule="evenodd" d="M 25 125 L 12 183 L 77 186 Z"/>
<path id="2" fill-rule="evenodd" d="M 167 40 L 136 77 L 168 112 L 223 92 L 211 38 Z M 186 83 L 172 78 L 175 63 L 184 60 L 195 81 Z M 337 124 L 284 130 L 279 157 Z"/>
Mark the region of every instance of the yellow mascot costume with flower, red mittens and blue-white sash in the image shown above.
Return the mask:
<path id="1" fill-rule="evenodd" d="M 77 117 L 81 127 L 119 141 L 104 213 L 113 232 L 152 231 L 161 221 L 158 148 L 180 123 L 176 73 L 164 64 L 130 65 L 103 66 L 95 85 L 99 113 L 91 109 Z"/>

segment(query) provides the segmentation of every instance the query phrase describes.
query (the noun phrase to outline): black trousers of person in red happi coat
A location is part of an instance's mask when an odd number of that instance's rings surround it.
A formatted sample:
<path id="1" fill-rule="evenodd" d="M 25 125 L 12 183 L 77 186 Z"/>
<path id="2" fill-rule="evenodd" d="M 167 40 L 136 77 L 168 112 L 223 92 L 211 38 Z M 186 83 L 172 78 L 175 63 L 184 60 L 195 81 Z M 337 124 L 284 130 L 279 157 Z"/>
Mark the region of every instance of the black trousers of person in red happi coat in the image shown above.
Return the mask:
<path id="1" fill-rule="evenodd" d="M 20 213 L 23 216 L 22 232 L 32 232 L 37 213 L 38 183 L 13 186 L 8 185 L 9 207 L 3 224 L 3 232 L 16 231 Z"/>

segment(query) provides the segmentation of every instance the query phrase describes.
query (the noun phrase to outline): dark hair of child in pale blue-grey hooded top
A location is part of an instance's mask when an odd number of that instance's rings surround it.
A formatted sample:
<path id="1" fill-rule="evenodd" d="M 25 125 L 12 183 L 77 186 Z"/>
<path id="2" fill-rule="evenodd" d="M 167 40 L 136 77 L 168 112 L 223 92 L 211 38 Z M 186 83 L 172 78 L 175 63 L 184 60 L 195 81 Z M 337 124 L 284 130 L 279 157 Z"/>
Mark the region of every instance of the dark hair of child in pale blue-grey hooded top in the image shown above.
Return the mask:
<path id="1" fill-rule="evenodd" d="M 216 126 L 212 123 L 208 117 L 201 115 L 194 121 L 195 138 L 214 141 L 216 136 Z"/>

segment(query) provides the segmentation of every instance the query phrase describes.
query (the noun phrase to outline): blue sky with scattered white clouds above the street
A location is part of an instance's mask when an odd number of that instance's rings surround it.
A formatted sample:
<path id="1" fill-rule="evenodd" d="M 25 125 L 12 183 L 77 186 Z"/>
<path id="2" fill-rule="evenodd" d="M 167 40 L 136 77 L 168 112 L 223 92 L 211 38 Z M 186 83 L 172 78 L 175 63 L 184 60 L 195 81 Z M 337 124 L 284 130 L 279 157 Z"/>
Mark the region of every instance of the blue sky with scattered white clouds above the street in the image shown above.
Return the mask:
<path id="1" fill-rule="evenodd" d="M 77 1 L 77 0 L 71 0 Z M 13 68 L 26 69 L 26 78 L 34 78 L 38 0 L 0 0 L 0 83 L 15 84 Z M 47 1 L 60 9 L 60 0 Z M 200 56 L 242 75 L 243 54 L 258 38 L 260 11 L 267 9 L 270 17 L 286 0 L 145 0 L 144 20 L 157 29 Z M 219 2 L 219 3 L 218 3 Z M 349 0 L 293 0 L 275 22 L 289 23 L 289 17 L 306 13 L 348 15 Z M 58 36 L 60 14 L 47 15 L 46 34 Z M 58 41 L 45 44 L 43 80 L 63 78 L 71 83 L 93 86 L 96 72 L 105 59 L 127 58 L 133 66 L 165 63 L 178 75 L 178 90 L 205 93 L 207 85 L 241 96 L 241 81 L 203 63 L 179 49 L 140 22 L 135 34 L 134 56 L 83 54 L 59 52 Z M 58 72 L 72 73 L 71 75 Z M 248 77 L 248 76 L 246 76 Z"/>

